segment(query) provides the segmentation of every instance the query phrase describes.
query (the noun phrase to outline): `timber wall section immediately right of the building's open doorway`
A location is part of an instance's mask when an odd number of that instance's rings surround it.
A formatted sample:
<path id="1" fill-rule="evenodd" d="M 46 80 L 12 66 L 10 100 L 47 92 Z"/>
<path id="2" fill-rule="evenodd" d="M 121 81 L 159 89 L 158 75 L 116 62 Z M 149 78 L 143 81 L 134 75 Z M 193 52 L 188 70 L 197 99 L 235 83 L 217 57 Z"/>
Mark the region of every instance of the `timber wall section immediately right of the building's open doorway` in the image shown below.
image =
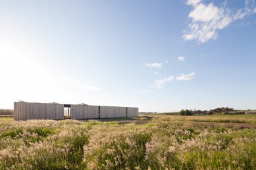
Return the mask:
<path id="1" fill-rule="evenodd" d="M 71 105 L 71 119 L 99 118 L 99 106 Z"/>

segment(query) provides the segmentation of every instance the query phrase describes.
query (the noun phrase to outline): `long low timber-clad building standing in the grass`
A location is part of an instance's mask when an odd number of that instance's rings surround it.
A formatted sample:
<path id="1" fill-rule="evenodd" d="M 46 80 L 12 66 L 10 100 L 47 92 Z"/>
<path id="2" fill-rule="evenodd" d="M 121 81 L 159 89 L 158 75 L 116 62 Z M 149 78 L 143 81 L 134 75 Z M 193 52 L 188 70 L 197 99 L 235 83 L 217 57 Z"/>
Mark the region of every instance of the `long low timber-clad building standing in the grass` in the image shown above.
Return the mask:
<path id="1" fill-rule="evenodd" d="M 87 104 L 58 104 L 14 102 L 14 120 L 28 119 L 101 119 L 136 117 L 138 108 L 116 106 L 90 106 Z"/>

